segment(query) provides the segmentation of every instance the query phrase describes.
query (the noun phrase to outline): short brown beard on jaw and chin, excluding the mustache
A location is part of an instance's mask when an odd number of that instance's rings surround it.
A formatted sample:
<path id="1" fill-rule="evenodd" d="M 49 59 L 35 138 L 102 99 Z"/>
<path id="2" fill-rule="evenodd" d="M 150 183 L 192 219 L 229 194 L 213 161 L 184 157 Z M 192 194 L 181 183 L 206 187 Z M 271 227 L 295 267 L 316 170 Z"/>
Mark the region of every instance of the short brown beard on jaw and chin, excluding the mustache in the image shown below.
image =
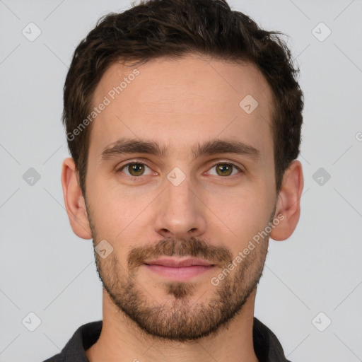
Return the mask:
<path id="1" fill-rule="evenodd" d="M 207 279 L 212 297 L 206 301 L 200 296 L 199 301 L 192 302 L 196 283 L 169 281 L 162 284 L 165 298 L 159 303 L 137 281 L 136 270 L 127 272 L 119 264 L 115 252 L 107 259 L 100 259 L 95 253 L 95 260 L 98 276 L 112 302 L 148 337 L 193 341 L 216 334 L 240 313 L 262 277 L 267 244 L 267 240 L 260 243 L 218 286 Z"/>

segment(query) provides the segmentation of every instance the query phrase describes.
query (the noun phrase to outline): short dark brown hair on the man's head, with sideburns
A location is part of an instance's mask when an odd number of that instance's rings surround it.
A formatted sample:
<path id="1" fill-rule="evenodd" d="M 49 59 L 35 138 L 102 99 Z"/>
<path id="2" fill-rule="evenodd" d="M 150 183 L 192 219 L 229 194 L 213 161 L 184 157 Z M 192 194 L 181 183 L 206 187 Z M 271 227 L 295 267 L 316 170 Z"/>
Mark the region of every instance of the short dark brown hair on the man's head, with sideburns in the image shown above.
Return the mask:
<path id="1" fill-rule="evenodd" d="M 91 124 L 68 137 L 90 114 L 95 87 L 117 61 L 144 64 L 160 57 L 204 54 L 231 62 L 252 62 L 272 90 L 276 190 L 285 170 L 296 159 L 303 122 L 303 93 L 291 52 L 280 32 L 259 28 L 225 0 L 144 0 L 123 13 L 100 18 L 83 39 L 64 84 L 63 123 L 74 158 L 79 184 L 86 194 L 86 172 Z"/>

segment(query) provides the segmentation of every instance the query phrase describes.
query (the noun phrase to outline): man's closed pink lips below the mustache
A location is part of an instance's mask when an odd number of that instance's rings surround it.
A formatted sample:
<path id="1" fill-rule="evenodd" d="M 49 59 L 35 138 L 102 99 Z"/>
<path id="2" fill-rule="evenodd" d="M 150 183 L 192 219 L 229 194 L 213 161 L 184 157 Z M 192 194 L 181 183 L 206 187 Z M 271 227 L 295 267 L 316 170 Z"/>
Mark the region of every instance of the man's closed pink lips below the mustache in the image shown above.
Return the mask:
<path id="1" fill-rule="evenodd" d="M 216 267 L 204 259 L 163 258 L 144 262 L 151 272 L 174 281 L 187 281 Z"/>

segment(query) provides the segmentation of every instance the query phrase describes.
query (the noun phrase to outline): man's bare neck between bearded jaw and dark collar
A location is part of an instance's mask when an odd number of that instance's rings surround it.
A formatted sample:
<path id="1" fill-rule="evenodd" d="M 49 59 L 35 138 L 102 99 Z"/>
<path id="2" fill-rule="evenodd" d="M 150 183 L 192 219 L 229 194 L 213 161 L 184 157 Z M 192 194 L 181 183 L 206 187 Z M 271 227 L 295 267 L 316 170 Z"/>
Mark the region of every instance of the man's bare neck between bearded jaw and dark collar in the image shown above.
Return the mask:
<path id="1" fill-rule="evenodd" d="M 103 289 L 102 331 L 86 356 L 89 362 L 258 362 L 252 341 L 256 291 L 228 325 L 197 341 L 182 342 L 146 334 L 118 310 Z"/>

